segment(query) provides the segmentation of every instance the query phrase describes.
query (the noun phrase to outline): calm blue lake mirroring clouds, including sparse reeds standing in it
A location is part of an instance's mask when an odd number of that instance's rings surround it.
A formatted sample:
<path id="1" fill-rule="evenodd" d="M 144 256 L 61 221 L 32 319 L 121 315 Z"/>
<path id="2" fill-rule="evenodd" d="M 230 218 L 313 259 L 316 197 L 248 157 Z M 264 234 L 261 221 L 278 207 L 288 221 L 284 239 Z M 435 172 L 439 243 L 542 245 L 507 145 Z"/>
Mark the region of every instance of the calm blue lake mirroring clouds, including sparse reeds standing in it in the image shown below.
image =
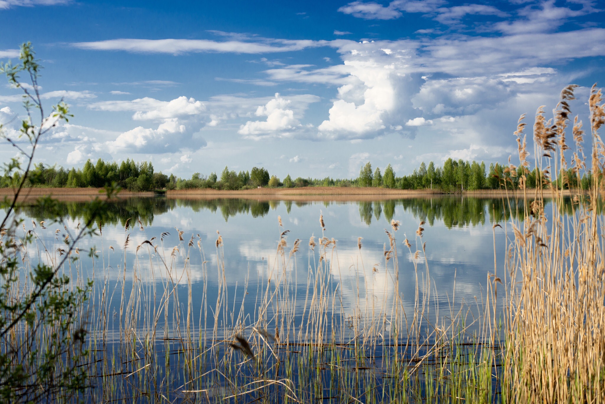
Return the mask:
<path id="1" fill-rule="evenodd" d="M 409 400 L 421 402 L 425 375 L 440 371 L 409 379 L 409 369 L 429 356 L 425 366 L 448 362 L 460 349 L 468 358 L 460 380 L 491 374 L 500 337 L 485 328 L 485 310 L 500 310 L 504 288 L 494 294 L 489 280 L 495 262 L 507 282 L 505 230 L 511 216 L 523 219 L 521 204 L 466 196 L 108 202 L 97 235 L 80 239 L 64 266 L 71 285 L 94 281 L 79 317 L 88 372 L 106 376 L 84 398 L 137 402 L 164 391 L 177 402 L 292 394 L 371 402 L 374 392 L 414 392 Z M 21 215 L 23 230 L 38 236 L 24 271 L 36 259 L 60 262 L 65 237 L 89 217 L 73 201 L 53 213 L 26 205 Z M 446 333 L 461 344 L 450 353 L 436 349 Z M 359 372 L 363 379 L 352 378 Z M 483 380 L 481 394 L 499 389 Z M 263 392 L 247 383 L 265 383 Z"/>

